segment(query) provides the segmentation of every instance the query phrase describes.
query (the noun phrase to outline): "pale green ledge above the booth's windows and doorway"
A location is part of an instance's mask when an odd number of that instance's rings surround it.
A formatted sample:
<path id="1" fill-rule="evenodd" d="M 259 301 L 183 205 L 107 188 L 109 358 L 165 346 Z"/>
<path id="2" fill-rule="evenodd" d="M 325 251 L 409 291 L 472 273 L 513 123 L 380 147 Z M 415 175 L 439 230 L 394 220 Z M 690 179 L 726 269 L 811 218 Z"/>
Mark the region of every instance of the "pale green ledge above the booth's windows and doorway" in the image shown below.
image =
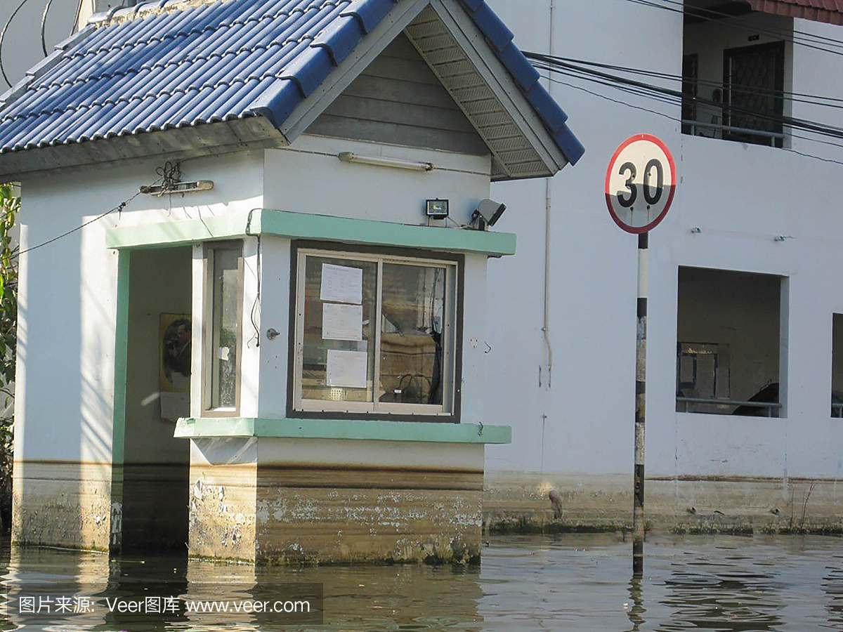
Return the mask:
<path id="1" fill-rule="evenodd" d="M 152 248 L 176 246 L 210 239 L 242 238 L 246 235 L 273 235 L 291 239 L 319 239 L 346 244 L 369 244 L 475 252 L 502 256 L 515 254 L 513 233 L 462 230 L 433 226 L 409 226 L 368 219 L 271 211 L 256 208 L 248 213 L 155 222 L 109 228 L 105 243 L 109 248 Z"/>

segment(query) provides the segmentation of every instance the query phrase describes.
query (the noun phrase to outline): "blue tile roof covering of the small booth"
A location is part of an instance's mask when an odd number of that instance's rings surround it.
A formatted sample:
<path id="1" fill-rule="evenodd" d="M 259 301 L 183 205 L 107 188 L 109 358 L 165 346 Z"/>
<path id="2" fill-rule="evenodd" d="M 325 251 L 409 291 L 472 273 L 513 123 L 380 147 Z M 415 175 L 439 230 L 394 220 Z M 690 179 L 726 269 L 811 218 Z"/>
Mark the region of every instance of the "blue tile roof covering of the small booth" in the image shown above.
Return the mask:
<path id="1" fill-rule="evenodd" d="M 161 0 L 112 10 L 12 88 L 0 153 L 263 115 L 280 128 L 400 0 Z M 460 0 L 571 163 L 566 115 L 483 0 Z"/>

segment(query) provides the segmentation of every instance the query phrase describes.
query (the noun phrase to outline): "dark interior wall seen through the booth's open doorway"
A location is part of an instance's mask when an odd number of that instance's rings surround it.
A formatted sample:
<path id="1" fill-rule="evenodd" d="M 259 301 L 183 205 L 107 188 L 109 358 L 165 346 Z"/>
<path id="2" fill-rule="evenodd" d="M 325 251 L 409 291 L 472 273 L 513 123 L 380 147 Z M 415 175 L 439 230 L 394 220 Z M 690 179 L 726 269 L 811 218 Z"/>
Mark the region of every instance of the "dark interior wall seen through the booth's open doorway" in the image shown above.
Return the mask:
<path id="1" fill-rule="evenodd" d="M 175 415 L 161 392 L 161 315 L 191 313 L 192 254 L 186 247 L 131 256 L 122 542 L 124 549 L 170 548 L 187 540 L 190 446 L 173 437 L 175 420 L 166 419 Z M 188 376 L 171 375 L 189 386 Z"/>

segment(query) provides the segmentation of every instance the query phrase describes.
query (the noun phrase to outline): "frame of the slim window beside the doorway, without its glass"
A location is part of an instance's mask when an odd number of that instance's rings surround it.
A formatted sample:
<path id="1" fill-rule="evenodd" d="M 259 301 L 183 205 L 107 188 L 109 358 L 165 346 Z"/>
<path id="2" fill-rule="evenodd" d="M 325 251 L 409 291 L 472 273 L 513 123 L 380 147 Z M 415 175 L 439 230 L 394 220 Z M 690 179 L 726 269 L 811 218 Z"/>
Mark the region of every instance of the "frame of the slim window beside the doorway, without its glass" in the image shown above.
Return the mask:
<path id="1" fill-rule="evenodd" d="M 212 408 L 211 389 L 214 335 L 214 279 L 213 269 L 217 250 L 235 250 L 237 252 L 237 335 L 234 346 L 234 407 Z M 240 384 L 243 380 L 243 281 L 244 258 L 243 242 L 240 240 L 207 242 L 202 244 L 202 363 L 201 363 L 201 403 L 202 415 L 207 417 L 237 417 L 240 414 Z"/>

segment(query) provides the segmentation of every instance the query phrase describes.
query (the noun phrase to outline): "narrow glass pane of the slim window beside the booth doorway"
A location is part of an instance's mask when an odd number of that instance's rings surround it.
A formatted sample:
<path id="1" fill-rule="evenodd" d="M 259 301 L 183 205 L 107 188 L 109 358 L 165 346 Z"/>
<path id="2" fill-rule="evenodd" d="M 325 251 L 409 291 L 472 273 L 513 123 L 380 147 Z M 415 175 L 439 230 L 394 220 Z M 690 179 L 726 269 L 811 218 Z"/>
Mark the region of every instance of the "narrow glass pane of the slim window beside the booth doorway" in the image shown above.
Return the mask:
<path id="1" fill-rule="evenodd" d="M 211 408 L 237 405 L 239 250 L 213 251 Z"/>

